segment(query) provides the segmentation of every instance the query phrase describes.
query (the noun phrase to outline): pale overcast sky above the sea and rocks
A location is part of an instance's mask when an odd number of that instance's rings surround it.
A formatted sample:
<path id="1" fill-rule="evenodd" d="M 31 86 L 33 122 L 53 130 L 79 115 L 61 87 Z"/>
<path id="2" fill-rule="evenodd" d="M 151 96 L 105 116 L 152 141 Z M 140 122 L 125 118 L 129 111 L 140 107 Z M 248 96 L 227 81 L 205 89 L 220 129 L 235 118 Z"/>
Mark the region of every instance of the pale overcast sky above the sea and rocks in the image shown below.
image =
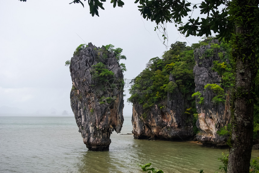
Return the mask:
<path id="1" fill-rule="evenodd" d="M 127 60 L 124 78 L 134 79 L 153 57 L 161 57 L 166 47 L 154 31 L 155 23 L 140 15 L 134 0 L 124 1 L 123 8 L 105 2 L 100 17 L 72 0 L 0 0 L 0 108 L 12 107 L 34 113 L 70 107 L 72 87 L 69 68 L 76 47 L 92 42 L 97 47 L 112 44 L 120 47 Z M 168 24 L 168 45 L 192 44 L 200 37 L 180 35 Z M 126 90 L 129 88 L 125 88 Z M 124 98 L 124 116 L 131 116 L 132 105 Z M 1 111 L 1 109 L 0 109 Z M 4 113 L 4 112 L 2 112 Z M 1 112 L 0 112 L 1 114 Z"/>

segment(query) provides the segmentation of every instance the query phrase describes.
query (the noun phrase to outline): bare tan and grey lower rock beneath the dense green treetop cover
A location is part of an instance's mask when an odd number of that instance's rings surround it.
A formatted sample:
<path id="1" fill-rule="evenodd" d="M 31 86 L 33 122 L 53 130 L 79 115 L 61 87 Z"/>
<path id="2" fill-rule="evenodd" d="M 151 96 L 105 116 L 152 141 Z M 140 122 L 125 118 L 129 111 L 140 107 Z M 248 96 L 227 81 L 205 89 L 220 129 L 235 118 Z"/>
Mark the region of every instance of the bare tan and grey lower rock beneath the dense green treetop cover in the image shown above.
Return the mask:
<path id="1" fill-rule="evenodd" d="M 170 74 L 169 81 L 173 81 Z M 178 91 L 167 93 L 167 100 L 143 110 L 143 104 L 133 103 L 132 125 L 135 139 L 185 139 L 192 136 L 192 116 L 185 114 L 185 99 Z M 166 106 L 160 106 L 166 105 Z"/>

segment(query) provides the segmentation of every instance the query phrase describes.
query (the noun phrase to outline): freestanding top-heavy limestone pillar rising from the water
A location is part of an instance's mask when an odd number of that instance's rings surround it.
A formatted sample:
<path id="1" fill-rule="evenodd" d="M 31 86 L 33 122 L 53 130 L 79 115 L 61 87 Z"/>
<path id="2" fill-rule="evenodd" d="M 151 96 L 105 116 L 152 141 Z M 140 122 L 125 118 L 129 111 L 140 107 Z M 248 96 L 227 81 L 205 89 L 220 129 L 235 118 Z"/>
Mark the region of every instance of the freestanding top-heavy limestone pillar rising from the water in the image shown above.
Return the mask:
<path id="1" fill-rule="evenodd" d="M 108 150 L 123 124 L 123 74 L 114 53 L 92 43 L 71 58 L 71 108 L 89 150 Z"/>

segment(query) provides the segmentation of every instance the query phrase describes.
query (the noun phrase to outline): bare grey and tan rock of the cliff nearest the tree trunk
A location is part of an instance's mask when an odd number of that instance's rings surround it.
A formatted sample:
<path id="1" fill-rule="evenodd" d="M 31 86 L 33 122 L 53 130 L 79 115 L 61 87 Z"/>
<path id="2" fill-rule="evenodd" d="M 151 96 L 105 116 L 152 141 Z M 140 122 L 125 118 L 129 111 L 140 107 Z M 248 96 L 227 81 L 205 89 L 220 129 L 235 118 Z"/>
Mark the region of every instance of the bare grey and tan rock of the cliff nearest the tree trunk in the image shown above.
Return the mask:
<path id="1" fill-rule="evenodd" d="M 211 44 L 219 44 L 217 40 L 213 40 Z M 204 98 L 204 103 L 199 104 L 196 100 L 196 108 L 198 112 L 198 120 L 196 126 L 200 130 L 197 134 L 197 140 L 209 146 L 224 146 L 226 145 L 226 136 L 219 136 L 217 131 L 224 126 L 227 126 L 230 120 L 230 99 L 229 89 L 224 88 L 226 94 L 225 102 L 214 104 L 212 98 L 215 93 L 212 90 L 204 90 L 206 84 L 220 85 L 222 76 L 211 70 L 214 60 L 220 60 L 218 53 L 219 49 L 214 49 L 213 54 L 207 56 L 210 45 L 201 46 L 194 51 L 196 66 L 193 69 L 195 75 L 195 92 L 199 91 L 201 97 Z"/>

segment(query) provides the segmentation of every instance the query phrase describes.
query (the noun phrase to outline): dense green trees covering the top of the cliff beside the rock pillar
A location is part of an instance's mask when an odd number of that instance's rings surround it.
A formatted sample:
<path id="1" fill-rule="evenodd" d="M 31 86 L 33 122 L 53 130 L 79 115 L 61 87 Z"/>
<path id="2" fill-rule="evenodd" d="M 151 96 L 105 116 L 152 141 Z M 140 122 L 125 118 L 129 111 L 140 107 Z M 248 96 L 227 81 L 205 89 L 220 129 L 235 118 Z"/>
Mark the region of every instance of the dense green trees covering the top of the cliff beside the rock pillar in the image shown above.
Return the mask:
<path id="1" fill-rule="evenodd" d="M 162 59 L 151 58 L 146 69 L 132 81 L 128 102 L 152 106 L 167 99 L 167 93 L 173 94 L 176 89 L 189 97 L 195 88 L 194 65 L 193 49 L 186 46 L 186 42 L 172 44 Z M 174 78 L 172 81 L 169 81 L 170 74 Z"/>

